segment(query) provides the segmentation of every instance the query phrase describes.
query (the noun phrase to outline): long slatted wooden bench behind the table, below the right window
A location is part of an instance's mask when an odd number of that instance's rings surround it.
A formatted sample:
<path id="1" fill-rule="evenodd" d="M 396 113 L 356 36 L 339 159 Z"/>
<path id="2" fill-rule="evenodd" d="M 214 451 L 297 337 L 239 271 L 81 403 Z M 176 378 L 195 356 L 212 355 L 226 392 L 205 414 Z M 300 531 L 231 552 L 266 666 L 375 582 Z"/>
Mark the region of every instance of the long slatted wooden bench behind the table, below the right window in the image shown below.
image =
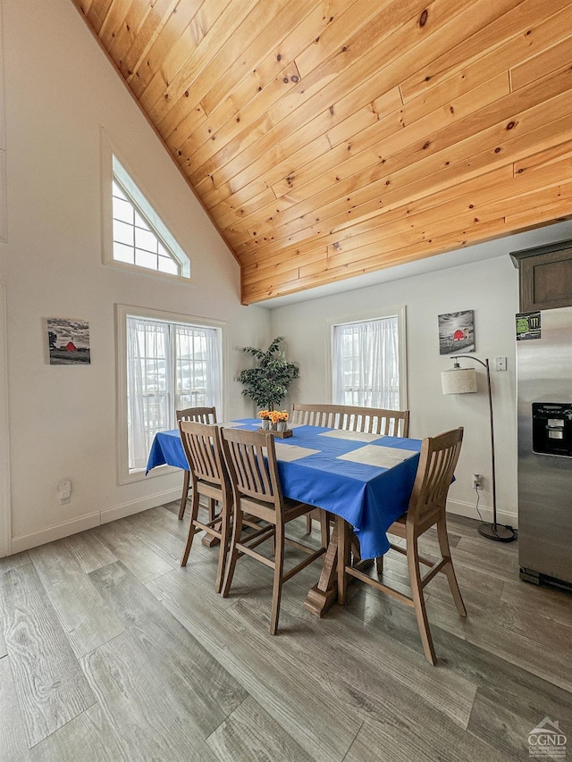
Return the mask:
<path id="1" fill-rule="evenodd" d="M 408 437 L 409 411 L 386 410 L 383 407 L 351 405 L 304 405 L 294 403 L 290 416 L 292 423 L 307 426 L 327 426 L 330 429 L 379 434 L 380 437 Z M 314 423 L 316 422 L 316 423 Z M 312 532 L 315 513 L 306 518 L 306 532 Z"/>

